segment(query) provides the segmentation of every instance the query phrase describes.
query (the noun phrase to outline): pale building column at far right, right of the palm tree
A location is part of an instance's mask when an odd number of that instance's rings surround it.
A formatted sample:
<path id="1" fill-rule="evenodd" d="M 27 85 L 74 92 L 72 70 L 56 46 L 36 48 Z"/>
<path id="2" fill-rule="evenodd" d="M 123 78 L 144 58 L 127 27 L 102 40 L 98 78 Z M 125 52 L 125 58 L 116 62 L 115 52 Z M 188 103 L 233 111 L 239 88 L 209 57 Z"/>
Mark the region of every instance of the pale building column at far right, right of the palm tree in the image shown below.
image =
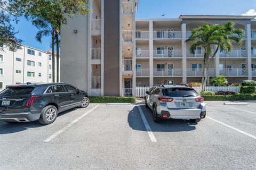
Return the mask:
<path id="1" fill-rule="evenodd" d="M 252 80 L 252 44 L 251 44 L 251 24 L 245 25 L 245 33 L 247 40 L 245 41 L 245 47 L 247 49 L 247 68 L 248 68 L 248 79 Z"/>

